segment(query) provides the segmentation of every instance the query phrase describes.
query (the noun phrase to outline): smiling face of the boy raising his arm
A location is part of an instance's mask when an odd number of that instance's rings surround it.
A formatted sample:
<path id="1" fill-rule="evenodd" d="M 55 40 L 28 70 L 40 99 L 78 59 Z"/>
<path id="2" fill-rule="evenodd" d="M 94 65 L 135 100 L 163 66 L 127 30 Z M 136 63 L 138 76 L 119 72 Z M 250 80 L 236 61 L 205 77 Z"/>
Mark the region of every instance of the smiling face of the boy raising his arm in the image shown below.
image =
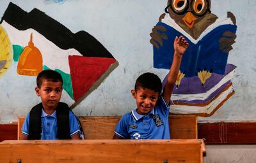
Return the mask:
<path id="1" fill-rule="evenodd" d="M 137 90 L 131 90 L 132 97 L 136 99 L 137 112 L 140 115 L 149 113 L 157 103 L 159 93 L 151 89 L 138 88 Z"/>

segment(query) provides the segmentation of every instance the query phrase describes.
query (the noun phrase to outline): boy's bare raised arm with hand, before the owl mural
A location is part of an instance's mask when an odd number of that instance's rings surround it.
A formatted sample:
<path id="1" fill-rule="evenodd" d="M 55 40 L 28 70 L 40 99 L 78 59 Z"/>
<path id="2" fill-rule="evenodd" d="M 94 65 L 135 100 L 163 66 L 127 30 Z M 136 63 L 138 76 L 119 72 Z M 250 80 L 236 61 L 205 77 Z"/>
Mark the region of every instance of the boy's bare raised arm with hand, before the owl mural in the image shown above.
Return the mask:
<path id="1" fill-rule="evenodd" d="M 189 46 L 188 41 L 183 36 L 176 36 L 174 39 L 174 55 L 173 62 L 168 73 L 168 78 L 166 84 L 164 85 L 163 97 L 166 100 L 166 103 L 170 103 L 170 98 L 172 96 L 172 90 L 175 85 L 175 81 L 177 80 L 177 76 L 179 74 L 180 62 L 182 60 L 182 55 L 186 51 Z"/>

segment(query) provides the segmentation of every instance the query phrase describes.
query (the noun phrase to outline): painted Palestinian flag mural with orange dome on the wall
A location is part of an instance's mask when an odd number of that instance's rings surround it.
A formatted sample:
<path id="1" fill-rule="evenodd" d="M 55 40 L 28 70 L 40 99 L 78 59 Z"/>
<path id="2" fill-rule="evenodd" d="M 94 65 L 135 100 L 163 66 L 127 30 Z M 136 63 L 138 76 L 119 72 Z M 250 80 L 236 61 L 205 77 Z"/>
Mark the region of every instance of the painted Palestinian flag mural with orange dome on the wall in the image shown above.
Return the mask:
<path id="1" fill-rule="evenodd" d="M 7 47 L 0 53 L 0 72 L 8 69 L 12 57 L 18 62 L 17 75 L 37 76 L 43 69 L 58 71 L 63 89 L 74 102 L 99 86 L 118 66 L 113 55 L 88 32 L 74 34 L 36 8 L 26 12 L 10 3 L 0 23 L 1 46 Z"/>

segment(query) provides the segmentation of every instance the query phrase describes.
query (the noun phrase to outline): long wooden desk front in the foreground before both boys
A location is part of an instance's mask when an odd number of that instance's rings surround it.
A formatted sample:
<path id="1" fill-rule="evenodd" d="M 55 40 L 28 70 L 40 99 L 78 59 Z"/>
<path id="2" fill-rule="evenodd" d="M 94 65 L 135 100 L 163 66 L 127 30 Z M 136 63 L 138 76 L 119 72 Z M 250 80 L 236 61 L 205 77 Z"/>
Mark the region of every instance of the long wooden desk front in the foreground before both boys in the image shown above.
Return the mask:
<path id="1" fill-rule="evenodd" d="M 0 143 L 1 162 L 203 162 L 201 139 L 31 140 Z"/>

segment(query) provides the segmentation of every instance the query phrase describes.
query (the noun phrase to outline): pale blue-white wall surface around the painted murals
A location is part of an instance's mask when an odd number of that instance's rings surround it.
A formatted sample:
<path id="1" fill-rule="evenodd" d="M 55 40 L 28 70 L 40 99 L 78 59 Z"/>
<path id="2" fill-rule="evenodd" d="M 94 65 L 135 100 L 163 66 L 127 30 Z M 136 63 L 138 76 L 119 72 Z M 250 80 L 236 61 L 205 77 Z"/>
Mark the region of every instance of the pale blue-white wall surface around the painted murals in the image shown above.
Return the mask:
<path id="1" fill-rule="evenodd" d="M 1 1 L 2 16 L 10 1 Z M 136 78 L 144 72 L 156 73 L 163 80 L 168 72 L 153 67 L 153 47 L 150 32 L 166 1 L 85 1 L 70 0 L 63 4 L 45 4 L 44 1 L 12 1 L 25 11 L 33 8 L 65 25 L 70 31 L 87 31 L 118 60 L 119 65 L 75 108 L 77 115 L 123 115 L 136 104 L 130 90 Z M 203 120 L 254 120 L 256 117 L 256 1 L 211 2 L 211 11 L 218 17 L 232 11 L 236 16 L 237 38 L 230 51 L 228 62 L 237 66 L 232 83 L 236 94 L 212 117 Z M 35 96 L 34 76 L 17 76 L 17 63 L 0 78 L 0 122 L 16 121 L 26 115 L 40 99 Z M 68 94 L 61 99 L 66 103 Z"/>

